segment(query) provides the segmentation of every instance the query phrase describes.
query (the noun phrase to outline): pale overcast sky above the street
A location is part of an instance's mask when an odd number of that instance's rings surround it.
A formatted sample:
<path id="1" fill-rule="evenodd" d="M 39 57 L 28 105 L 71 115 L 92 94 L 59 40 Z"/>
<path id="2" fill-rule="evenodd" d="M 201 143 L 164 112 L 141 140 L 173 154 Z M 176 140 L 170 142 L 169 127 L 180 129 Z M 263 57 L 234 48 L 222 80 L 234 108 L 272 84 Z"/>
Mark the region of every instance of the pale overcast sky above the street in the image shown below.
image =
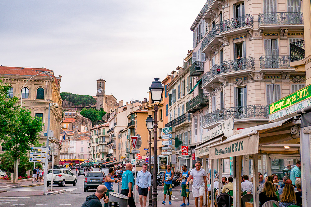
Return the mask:
<path id="1" fill-rule="evenodd" d="M 143 100 L 192 49 L 206 0 L 1 1 L 0 64 L 62 75 L 61 92 Z"/>

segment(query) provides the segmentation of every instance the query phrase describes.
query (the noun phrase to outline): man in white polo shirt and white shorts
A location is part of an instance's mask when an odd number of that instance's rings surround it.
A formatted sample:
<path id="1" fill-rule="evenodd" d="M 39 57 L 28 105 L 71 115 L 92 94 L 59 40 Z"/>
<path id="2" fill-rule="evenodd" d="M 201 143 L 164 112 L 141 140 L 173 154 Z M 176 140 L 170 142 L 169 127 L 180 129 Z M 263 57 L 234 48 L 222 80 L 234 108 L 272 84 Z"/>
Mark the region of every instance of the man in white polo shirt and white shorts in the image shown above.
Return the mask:
<path id="1" fill-rule="evenodd" d="M 186 185 L 188 185 L 191 178 L 193 178 L 192 184 L 192 196 L 194 197 L 195 206 L 198 207 L 200 197 L 200 207 L 203 206 L 204 190 L 207 191 L 206 171 L 201 168 L 201 162 L 195 163 L 194 169 L 191 170 L 190 175 L 187 179 Z"/>

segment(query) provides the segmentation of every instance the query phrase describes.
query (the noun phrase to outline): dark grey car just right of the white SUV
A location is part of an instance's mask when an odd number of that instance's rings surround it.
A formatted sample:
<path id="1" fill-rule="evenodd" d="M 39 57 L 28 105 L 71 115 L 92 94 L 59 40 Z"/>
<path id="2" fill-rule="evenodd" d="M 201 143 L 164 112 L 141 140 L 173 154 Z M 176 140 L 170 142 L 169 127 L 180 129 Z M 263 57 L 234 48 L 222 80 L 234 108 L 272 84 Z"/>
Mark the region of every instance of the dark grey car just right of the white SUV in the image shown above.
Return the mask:
<path id="1" fill-rule="evenodd" d="M 96 189 L 99 185 L 105 182 L 105 174 L 101 171 L 90 171 L 86 174 L 83 183 L 83 191 L 86 192 L 90 189 Z"/>

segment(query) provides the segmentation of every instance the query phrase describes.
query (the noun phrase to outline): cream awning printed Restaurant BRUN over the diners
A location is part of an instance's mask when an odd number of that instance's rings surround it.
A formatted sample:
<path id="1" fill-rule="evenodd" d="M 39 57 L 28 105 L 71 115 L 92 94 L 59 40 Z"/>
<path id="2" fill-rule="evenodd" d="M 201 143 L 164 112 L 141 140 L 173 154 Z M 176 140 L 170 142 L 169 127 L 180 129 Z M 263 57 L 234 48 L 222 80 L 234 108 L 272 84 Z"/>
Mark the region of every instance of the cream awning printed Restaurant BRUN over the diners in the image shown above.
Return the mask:
<path id="1" fill-rule="evenodd" d="M 209 159 L 224 159 L 252 154 L 299 154 L 299 131 L 295 132 L 295 119 L 234 131 L 223 142 L 208 146 Z M 293 128 L 293 129 L 292 129 Z M 272 146 L 273 144 L 273 146 Z M 285 149 L 284 146 L 290 146 Z"/>

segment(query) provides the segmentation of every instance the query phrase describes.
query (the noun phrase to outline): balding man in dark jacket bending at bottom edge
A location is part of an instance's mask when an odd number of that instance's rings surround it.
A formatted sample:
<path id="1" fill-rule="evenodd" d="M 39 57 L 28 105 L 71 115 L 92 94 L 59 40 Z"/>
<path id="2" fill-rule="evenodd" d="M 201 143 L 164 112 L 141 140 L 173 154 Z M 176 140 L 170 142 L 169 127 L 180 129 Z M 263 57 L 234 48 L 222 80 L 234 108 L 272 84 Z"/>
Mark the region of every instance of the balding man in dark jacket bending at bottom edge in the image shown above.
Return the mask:
<path id="1" fill-rule="evenodd" d="M 96 192 L 91 195 L 87 196 L 86 200 L 82 204 L 81 207 L 103 207 L 100 200 L 103 199 L 105 203 L 109 202 L 108 196 L 106 196 L 107 187 L 104 185 L 100 185 L 97 187 Z"/>

